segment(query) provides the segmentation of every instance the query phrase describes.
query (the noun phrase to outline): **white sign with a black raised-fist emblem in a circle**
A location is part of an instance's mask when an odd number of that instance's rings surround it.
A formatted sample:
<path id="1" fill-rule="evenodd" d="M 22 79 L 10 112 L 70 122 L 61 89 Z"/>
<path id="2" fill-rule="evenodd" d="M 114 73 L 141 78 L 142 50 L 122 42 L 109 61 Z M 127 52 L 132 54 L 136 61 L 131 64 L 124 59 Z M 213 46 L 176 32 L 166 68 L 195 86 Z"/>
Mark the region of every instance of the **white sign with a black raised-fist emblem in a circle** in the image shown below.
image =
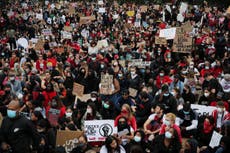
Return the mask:
<path id="1" fill-rule="evenodd" d="M 84 122 L 84 130 L 89 142 L 105 141 L 106 137 L 117 133 L 114 120 L 91 120 Z"/>

